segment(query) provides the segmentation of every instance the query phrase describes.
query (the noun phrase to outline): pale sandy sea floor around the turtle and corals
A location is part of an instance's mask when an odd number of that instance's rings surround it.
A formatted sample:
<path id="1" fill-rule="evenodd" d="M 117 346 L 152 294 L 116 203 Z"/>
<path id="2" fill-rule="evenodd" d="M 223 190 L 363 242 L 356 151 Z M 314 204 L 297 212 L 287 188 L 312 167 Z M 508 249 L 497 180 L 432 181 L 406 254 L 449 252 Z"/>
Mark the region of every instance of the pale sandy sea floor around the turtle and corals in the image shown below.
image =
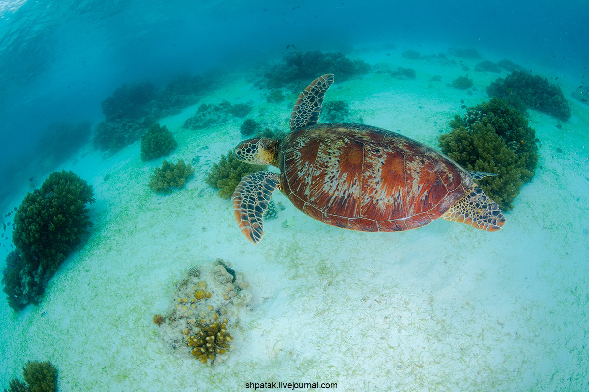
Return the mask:
<path id="1" fill-rule="evenodd" d="M 414 68 L 415 80 L 336 76 L 326 99 L 345 99 L 366 124 L 434 147 L 464 113 L 461 100 L 483 102 L 485 87 L 507 75 L 397 52 L 364 58 Z M 471 69 L 478 62 L 463 61 Z M 446 86 L 465 73 L 474 89 Z M 287 128 L 291 103 L 266 103 L 245 75 L 202 102 L 221 99 L 252 102 L 256 118 Z M 64 392 L 240 390 L 264 381 L 337 383 L 341 391 L 584 390 L 589 107 L 570 103 L 565 123 L 530 110 L 540 163 L 495 233 L 445 220 L 401 233 L 350 232 L 313 220 L 277 192 L 273 200 L 286 209 L 264 223 L 255 246 L 230 203 L 203 182 L 242 139 L 241 120 L 182 129 L 197 105 L 160 121 L 178 140 L 168 159 L 194 159 L 197 168 L 169 196 L 147 186 L 161 160 L 141 162 L 140 143 L 108 158 L 88 147 L 65 169 L 94 186 L 94 227 L 41 304 L 17 314 L 0 300 L 0 382 L 21 378 L 27 360 L 51 360 Z M 152 317 L 166 311 L 191 266 L 217 258 L 250 283 L 253 299 L 231 314 L 229 353 L 204 366 L 169 350 Z"/>

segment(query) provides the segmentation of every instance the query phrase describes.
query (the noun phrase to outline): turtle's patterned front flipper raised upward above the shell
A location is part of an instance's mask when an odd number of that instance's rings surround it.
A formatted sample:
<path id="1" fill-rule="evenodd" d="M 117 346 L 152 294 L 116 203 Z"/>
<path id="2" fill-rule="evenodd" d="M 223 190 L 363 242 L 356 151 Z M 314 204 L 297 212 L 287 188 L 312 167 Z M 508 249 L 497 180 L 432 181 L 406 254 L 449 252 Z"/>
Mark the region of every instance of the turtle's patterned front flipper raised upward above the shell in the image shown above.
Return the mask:
<path id="1" fill-rule="evenodd" d="M 331 73 L 319 76 L 299 94 L 299 99 L 296 100 L 293 111 L 290 113 L 290 130 L 315 125 L 319 121 L 325 93 L 332 84 Z"/>

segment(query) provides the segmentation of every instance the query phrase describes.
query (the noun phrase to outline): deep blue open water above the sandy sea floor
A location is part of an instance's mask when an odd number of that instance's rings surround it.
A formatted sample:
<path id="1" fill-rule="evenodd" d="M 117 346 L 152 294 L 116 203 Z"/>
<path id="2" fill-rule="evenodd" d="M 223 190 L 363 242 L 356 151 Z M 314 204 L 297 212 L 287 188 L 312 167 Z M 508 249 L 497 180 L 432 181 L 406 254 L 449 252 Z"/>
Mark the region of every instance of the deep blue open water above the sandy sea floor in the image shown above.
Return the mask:
<path id="1" fill-rule="evenodd" d="M 317 4 L 319 3 L 319 4 Z M 297 49 L 447 43 L 588 73 L 589 6 L 556 1 L 18 1 L 0 9 L 0 179 L 35 155 L 55 121 L 101 119 L 125 82 L 277 60 Z M 19 157 L 16 160 L 16 157 Z M 28 170 L 21 177 L 34 175 Z M 0 202 L 0 205 L 4 203 Z"/>

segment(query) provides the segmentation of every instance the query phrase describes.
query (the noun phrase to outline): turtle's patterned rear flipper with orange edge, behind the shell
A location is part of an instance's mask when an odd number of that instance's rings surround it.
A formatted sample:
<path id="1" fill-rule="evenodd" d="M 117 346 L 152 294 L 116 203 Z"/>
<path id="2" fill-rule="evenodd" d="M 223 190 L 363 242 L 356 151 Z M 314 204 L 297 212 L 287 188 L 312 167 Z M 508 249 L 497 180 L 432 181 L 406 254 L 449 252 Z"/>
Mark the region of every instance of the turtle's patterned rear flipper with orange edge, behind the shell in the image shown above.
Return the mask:
<path id="1" fill-rule="evenodd" d="M 442 218 L 451 222 L 465 223 L 475 229 L 496 232 L 505 224 L 505 216 L 497 203 L 489 199 L 479 187 L 472 187 Z"/>

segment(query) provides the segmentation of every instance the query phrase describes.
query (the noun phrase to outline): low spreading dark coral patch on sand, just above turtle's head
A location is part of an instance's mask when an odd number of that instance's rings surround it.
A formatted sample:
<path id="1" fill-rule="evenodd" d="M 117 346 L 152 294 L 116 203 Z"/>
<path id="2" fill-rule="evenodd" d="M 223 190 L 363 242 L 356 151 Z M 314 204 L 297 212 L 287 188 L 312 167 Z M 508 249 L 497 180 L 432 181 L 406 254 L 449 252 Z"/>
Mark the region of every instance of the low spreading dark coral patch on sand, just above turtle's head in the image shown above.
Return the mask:
<path id="1" fill-rule="evenodd" d="M 197 112 L 184 121 L 186 129 L 204 129 L 224 124 L 233 117 L 244 118 L 252 111 L 252 106 L 245 103 L 230 103 L 223 100 L 219 105 L 203 103 Z"/>

